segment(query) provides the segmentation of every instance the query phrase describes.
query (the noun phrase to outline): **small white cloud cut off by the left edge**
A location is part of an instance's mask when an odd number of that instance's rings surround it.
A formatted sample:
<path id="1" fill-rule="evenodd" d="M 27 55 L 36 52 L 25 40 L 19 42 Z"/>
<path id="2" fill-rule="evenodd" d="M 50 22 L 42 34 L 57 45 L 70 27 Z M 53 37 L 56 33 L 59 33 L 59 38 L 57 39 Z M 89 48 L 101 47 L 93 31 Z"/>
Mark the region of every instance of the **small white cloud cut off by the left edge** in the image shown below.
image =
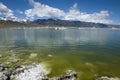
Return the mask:
<path id="1" fill-rule="evenodd" d="M 0 3 L 0 15 L 5 15 L 6 17 L 13 16 L 13 11 L 7 6 L 5 6 L 3 3 Z"/>

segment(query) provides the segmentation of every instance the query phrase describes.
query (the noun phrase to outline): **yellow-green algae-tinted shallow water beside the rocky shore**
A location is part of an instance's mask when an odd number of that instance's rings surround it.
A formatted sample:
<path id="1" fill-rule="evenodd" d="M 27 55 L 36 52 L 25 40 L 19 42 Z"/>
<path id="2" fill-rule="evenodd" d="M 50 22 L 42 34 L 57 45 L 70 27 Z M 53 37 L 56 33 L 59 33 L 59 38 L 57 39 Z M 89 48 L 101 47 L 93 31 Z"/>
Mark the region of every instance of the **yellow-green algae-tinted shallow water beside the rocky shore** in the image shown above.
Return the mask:
<path id="1" fill-rule="evenodd" d="M 4 52 L 8 51 L 6 50 Z M 68 69 L 75 70 L 78 73 L 78 80 L 94 80 L 99 76 L 120 77 L 119 57 L 112 54 L 108 57 L 107 53 L 105 54 L 104 52 L 100 51 L 96 54 L 96 52 L 92 50 L 84 51 L 80 49 L 61 50 L 55 48 L 27 48 L 13 50 L 13 53 L 21 59 L 21 61 L 15 64 L 25 65 L 35 61 L 46 63 L 49 65 L 48 68 L 51 70 L 51 73 L 48 74 L 49 77 L 64 74 Z M 30 58 L 31 53 L 36 53 L 37 56 Z M 8 55 L 10 54 L 11 53 L 8 53 Z M 7 54 L 5 55 L 7 57 Z"/>

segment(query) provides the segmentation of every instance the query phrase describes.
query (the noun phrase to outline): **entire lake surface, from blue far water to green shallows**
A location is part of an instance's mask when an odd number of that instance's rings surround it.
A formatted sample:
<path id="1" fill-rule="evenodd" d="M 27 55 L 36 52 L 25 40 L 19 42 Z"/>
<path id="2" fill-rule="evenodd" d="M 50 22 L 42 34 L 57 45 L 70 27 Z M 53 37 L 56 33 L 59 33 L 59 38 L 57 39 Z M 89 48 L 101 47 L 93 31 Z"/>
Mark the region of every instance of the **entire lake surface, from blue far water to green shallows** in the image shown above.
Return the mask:
<path id="1" fill-rule="evenodd" d="M 120 30 L 68 28 L 0 29 L 0 53 L 15 53 L 18 64 L 34 61 L 48 64 L 50 77 L 72 69 L 78 80 L 100 76 L 120 77 Z M 35 58 L 29 58 L 37 53 Z M 6 62 L 7 58 L 0 60 Z"/>

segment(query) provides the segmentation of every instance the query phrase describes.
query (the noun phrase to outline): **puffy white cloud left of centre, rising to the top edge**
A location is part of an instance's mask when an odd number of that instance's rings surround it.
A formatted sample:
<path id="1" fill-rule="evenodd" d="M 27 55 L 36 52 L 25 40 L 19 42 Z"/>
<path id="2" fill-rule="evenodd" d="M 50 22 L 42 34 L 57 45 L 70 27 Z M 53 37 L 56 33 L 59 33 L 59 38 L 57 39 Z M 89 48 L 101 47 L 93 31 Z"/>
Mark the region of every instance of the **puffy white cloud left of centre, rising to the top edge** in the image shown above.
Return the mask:
<path id="1" fill-rule="evenodd" d="M 29 1 L 33 8 L 25 11 L 27 17 L 61 17 L 65 15 L 64 11 L 58 8 L 53 8 L 48 5 L 35 2 L 34 0 Z"/>

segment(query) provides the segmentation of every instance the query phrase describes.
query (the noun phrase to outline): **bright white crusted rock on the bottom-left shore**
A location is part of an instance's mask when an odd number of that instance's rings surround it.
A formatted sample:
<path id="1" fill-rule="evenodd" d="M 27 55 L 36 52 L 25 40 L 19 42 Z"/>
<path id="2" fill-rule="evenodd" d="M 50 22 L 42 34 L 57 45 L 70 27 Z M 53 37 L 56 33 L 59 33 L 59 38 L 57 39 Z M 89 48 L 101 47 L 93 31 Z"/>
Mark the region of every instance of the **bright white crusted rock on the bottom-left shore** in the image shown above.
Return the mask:
<path id="1" fill-rule="evenodd" d="M 22 66 L 13 71 L 12 80 L 42 80 L 46 74 L 46 69 L 40 64 Z"/>

